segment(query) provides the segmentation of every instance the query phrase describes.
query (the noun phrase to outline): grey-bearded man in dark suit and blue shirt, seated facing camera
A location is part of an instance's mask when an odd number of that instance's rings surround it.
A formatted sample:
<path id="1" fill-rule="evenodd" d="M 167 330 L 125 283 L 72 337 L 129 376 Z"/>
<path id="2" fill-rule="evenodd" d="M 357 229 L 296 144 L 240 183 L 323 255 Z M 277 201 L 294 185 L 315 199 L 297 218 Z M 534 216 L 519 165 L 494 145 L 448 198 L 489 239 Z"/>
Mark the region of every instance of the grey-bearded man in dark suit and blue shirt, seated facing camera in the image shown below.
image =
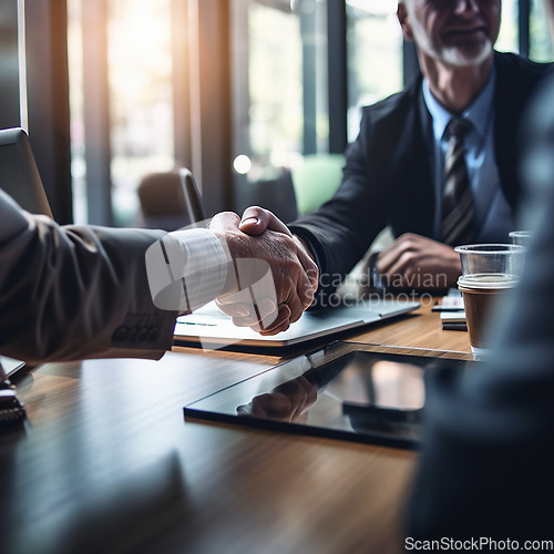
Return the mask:
<path id="1" fill-rule="evenodd" d="M 460 274 L 452 246 L 505 242 L 514 228 L 516 130 L 552 66 L 493 51 L 500 0 L 404 0 L 398 18 L 404 38 L 416 41 L 422 74 L 404 92 L 363 109 L 337 194 L 290 225 L 319 263 L 322 289 L 332 289 L 387 225 L 398 238 L 378 257 L 381 276 L 393 286 L 435 289 L 453 286 Z M 469 234 L 447 240 L 443 155 L 455 115 L 469 122 L 473 206 Z"/>

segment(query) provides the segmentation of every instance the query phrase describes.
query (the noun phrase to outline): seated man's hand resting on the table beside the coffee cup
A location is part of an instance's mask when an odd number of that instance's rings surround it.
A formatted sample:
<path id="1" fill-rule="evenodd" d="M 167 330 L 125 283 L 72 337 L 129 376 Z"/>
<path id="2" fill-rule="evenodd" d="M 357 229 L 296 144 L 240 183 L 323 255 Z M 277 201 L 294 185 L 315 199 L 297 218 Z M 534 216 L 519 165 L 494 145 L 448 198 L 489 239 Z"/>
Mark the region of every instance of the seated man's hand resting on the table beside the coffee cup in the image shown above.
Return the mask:
<path id="1" fill-rule="evenodd" d="M 388 286 L 414 289 L 454 287 L 462 273 L 451 246 L 411 233 L 379 254 L 377 269 Z"/>

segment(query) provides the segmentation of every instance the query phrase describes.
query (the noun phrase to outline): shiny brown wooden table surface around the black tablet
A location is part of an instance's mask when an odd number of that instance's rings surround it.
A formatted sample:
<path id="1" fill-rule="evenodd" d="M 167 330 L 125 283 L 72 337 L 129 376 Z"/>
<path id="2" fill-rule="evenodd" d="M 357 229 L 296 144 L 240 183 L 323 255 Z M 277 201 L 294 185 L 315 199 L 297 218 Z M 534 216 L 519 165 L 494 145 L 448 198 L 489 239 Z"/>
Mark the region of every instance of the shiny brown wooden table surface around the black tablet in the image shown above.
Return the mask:
<path id="1" fill-rule="evenodd" d="M 471 359 L 431 304 L 347 340 Z M 185 404 L 280 361 L 175 348 L 24 375 L 28 428 L 0 438 L 0 551 L 399 552 L 416 452 L 185 422 Z"/>

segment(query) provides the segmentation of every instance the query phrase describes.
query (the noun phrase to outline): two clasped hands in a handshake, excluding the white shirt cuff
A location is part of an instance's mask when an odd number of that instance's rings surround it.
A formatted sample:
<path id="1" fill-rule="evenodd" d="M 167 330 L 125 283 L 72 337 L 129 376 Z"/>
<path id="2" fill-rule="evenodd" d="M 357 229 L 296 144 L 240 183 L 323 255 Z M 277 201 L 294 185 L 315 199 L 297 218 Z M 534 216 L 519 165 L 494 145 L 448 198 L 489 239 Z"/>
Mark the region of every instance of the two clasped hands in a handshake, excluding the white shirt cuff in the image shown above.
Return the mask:
<path id="1" fill-rule="evenodd" d="M 288 329 L 317 289 L 318 268 L 305 247 L 271 212 L 259 207 L 246 209 L 242 220 L 230 212 L 218 214 L 211 229 L 226 242 L 235 261 L 216 300 L 219 308 L 235 325 L 261 335 Z"/>

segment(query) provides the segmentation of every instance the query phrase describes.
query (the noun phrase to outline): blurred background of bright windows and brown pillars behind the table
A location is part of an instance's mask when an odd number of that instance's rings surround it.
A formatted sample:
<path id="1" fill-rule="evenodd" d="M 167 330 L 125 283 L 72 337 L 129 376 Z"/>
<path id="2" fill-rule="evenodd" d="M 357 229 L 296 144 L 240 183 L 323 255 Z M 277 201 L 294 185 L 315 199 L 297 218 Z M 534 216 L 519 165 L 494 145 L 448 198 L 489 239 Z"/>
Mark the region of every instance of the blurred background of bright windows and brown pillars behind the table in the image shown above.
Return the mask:
<path id="1" fill-rule="evenodd" d="M 553 59 L 542 3 L 496 48 Z M 0 127 L 23 126 L 60 223 L 143 225 L 144 176 L 189 167 L 206 212 L 263 203 L 342 153 L 360 106 L 418 69 L 396 0 L 3 0 Z M 19 21 L 19 24 L 18 24 Z"/>

